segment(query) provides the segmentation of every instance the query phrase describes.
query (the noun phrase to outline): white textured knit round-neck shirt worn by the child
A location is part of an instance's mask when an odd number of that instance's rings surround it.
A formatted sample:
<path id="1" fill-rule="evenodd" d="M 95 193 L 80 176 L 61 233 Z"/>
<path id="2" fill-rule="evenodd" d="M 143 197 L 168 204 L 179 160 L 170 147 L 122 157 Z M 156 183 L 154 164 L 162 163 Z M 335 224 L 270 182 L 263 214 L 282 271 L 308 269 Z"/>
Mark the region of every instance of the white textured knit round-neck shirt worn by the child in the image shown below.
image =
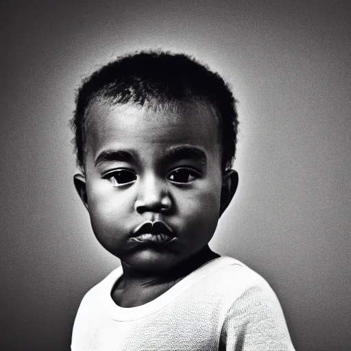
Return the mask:
<path id="1" fill-rule="evenodd" d="M 215 258 L 131 308 L 111 298 L 122 274 L 118 267 L 84 296 L 72 351 L 294 350 L 276 294 L 234 258 Z"/>

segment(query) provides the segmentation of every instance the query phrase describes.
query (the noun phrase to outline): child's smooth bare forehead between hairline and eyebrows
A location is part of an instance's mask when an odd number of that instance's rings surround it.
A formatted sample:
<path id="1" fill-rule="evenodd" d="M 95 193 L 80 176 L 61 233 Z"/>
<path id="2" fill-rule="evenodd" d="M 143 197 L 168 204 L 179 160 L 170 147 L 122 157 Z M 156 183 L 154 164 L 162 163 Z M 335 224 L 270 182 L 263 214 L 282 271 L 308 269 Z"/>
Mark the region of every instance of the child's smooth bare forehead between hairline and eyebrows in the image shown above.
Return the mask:
<path id="1" fill-rule="evenodd" d="M 86 112 L 86 132 L 94 138 L 109 131 L 143 137 L 155 133 L 170 138 L 173 134 L 204 136 L 208 131 L 213 142 L 219 136 L 219 118 L 213 106 L 206 101 L 168 101 L 165 104 L 150 103 L 144 106 L 112 101 L 95 101 Z"/>

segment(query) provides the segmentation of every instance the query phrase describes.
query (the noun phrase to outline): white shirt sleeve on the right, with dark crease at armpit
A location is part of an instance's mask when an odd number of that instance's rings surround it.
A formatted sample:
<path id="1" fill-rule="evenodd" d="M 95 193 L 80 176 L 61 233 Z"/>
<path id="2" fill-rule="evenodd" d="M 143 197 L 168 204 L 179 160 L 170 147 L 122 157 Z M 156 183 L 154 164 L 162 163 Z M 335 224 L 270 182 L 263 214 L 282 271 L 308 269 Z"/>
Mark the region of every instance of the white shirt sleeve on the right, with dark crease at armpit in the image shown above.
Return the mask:
<path id="1" fill-rule="evenodd" d="M 278 298 L 265 280 L 245 289 L 229 308 L 219 350 L 295 351 Z"/>

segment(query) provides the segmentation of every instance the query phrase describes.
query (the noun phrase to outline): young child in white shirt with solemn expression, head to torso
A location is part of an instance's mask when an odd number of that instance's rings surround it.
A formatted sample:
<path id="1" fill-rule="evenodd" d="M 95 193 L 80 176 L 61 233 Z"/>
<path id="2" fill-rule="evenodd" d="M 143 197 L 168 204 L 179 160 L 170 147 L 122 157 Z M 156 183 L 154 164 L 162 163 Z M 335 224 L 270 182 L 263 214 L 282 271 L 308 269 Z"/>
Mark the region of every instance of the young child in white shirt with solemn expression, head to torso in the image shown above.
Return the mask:
<path id="1" fill-rule="evenodd" d="M 238 184 L 235 100 L 182 54 L 143 51 L 84 81 L 74 182 L 121 260 L 85 295 L 71 350 L 294 350 L 274 291 L 211 251 Z"/>

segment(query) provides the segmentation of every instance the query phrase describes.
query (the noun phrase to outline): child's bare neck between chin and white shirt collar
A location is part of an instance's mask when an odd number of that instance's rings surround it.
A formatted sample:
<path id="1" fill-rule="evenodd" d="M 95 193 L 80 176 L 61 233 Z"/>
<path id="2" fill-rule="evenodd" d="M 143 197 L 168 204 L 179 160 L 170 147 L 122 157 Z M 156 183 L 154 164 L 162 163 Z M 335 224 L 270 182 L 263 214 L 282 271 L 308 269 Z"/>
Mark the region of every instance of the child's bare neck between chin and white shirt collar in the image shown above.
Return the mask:
<path id="1" fill-rule="evenodd" d="M 192 271 L 218 257 L 219 254 L 206 245 L 194 256 L 160 274 L 141 273 L 122 262 L 123 276 L 112 291 L 112 299 L 121 307 L 140 306 L 162 295 Z"/>

